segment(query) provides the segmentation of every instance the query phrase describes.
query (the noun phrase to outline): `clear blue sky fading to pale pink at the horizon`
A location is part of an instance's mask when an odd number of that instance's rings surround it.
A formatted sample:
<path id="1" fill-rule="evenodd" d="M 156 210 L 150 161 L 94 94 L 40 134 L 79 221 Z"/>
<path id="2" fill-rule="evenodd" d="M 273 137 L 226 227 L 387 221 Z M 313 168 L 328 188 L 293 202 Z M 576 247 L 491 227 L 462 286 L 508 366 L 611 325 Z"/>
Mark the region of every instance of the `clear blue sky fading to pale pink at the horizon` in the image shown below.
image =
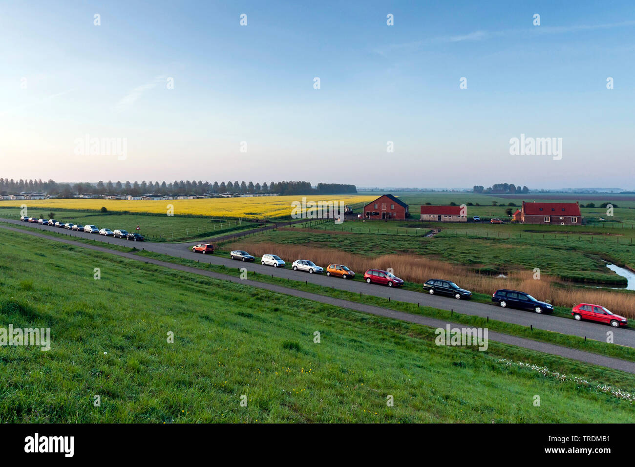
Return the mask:
<path id="1" fill-rule="evenodd" d="M 0 177 L 635 188 L 632 1 L 3 0 L 0 39 Z"/>

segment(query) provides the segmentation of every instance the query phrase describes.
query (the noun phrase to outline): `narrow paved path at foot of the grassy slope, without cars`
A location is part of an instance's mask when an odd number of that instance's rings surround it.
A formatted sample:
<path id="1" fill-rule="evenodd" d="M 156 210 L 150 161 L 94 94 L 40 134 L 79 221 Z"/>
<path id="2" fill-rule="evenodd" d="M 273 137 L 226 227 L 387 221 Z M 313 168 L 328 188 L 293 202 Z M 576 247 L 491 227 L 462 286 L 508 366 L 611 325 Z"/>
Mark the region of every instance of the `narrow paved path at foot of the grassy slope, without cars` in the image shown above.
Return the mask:
<path id="1" fill-rule="evenodd" d="M 46 238 L 47 240 L 59 241 L 61 243 L 67 243 L 70 245 L 77 245 L 78 247 L 88 248 L 90 250 L 95 250 L 99 252 L 104 252 L 107 254 L 117 255 L 119 257 L 124 257 L 128 259 L 132 259 L 135 261 L 143 261 L 150 264 L 156 264 L 157 266 L 169 267 L 170 269 L 175 269 L 177 271 L 184 271 L 185 273 L 190 274 L 199 274 L 201 276 L 207 276 L 210 278 L 215 278 L 219 280 L 227 280 L 234 283 L 239 283 L 241 285 L 249 285 L 251 287 L 257 287 L 264 290 L 270 290 L 271 292 L 277 292 L 279 294 L 293 295 L 295 297 L 300 297 L 316 302 L 321 302 L 325 304 L 331 304 L 333 306 L 338 306 L 344 309 L 353 309 L 356 311 L 361 311 L 364 313 L 370 313 L 372 315 L 377 316 L 385 316 L 387 318 L 392 318 L 395 320 L 407 321 L 409 323 L 416 323 L 424 326 L 430 326 L 434 328 L 445 328 L 446 325 L 450 324 L 451 327 L 464 327 L 465 325 L 461 325 L 459 323 L 452 323 L 451 321 L 443 321 L 437 320 L 435 318 L 429 318 L 427 316 L 420 315 L 412 315 L 411 313 L 404 313 L 402 311 L 395 311 L 391 309 L 385 309 L 378 306 L 367 305 L 363 303 L 351 302 L 343 299 L 336 299 L 333 297 L 328 297 L 325 295 L 311 294 L 310 292 L 303 292 L 302 290 L 296 290 L 294 288 L 283 287 L 280 285 L 273 285 L 262 283 L 258 281 L 252 280 L 241 280 L 238 276 L 230 276 L 229 274 L 221 274 L 214 273 L 212 271 L 206 271 L 204 269 L 198 269 L 196 267 L 184 266 L 182 264 L 173 264 L 170 262 L 159 261 L 156 259 L 145 258 L 142 256 L 137 256 L 133 253 L 125 253 L 119 252 L 117 250 L 112 250 L 107 247 L 97 247 L 95 245 L 87 245 L 85 243 L 79 243 L 77 241 L 65 238 L 57 238 L 46 235 L 45 233 L 37 233 L 35 231 L 23 231 L 21 229 L 14 229 L 13 227 L 5 227 L 0 226 L 0 229 L 7 229 L 11 231 L 15 231 L 18 233 L 30 234 L 33 236 L 37 236 L 39 238 Z M 109 239 L 110 240 L 110 239 Z M 573 360 L 578 360 L 584 363 L 591 363 L 593 365 L 600 365 L 607 368 L 612 368 L 616 370 L 622 370 L 624 372 L 635 374 L 635 362 L 628 362 L 627 360 L 621 360 L 620 358 L 612 358 L 609 356 L 598 355 L 591 352 L 585 352 L 577 349 L 570 349 L 563 346 L 558 346 L 555 344 L 549 344 L 547 342 L 539 342 L 533 341 L 531 339 L 525 339 L 524 337 L 516 337 L 509 334 L 502 334 L 500 332 L 488 332 L 488 340 L 493 342 L 502 342 L 504 344 L 510 344 L 518 347 L 523 347 L 535 351 L 540 351 L 544 353 L 549 353 L 551 355 L 560 355 L 566 358 L 572 358 Z"/>

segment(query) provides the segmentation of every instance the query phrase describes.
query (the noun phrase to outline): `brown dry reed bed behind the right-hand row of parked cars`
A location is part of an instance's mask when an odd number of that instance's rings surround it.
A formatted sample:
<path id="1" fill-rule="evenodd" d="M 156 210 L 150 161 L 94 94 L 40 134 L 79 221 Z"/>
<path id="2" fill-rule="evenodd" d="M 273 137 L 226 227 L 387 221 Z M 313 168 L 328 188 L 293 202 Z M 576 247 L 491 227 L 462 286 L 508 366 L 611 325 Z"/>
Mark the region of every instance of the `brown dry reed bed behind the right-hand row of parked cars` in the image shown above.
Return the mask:
<path id="1" fill-rule="evenodd" d="M 366 269 L 391 267 L 396 276 L 409 282 L 424 283 L 431 278 L 443 278 L 481 294 L 493 294 L 499 288 L 512 288 L 523 290 L 538 300 L 548 301 L 555 306 L 572 307 L 578 303 L 599 304 L 613 313 L 635 318 L 635 294 L 622 293 L 618 290 L 575 287 L 545 274 L 540 276 L 540 280 L 535 280 L 532 271 L 512 271 L 506 277 L 489 276 L 475 273 L 469 267 L 429 259 L 421 255 L 391 254 L 364 257 L 333 248 L 281 245 L 271 242 L 237 241 L 224 245 L 224 248 L 248 250 L 257 257 L 264 254 L 276 254 L 288 264 L 297 259 L 311 259 L 323 267 L 331 262 L 337 262 L 345 264 L 358 274 L 364 273 Z"/>

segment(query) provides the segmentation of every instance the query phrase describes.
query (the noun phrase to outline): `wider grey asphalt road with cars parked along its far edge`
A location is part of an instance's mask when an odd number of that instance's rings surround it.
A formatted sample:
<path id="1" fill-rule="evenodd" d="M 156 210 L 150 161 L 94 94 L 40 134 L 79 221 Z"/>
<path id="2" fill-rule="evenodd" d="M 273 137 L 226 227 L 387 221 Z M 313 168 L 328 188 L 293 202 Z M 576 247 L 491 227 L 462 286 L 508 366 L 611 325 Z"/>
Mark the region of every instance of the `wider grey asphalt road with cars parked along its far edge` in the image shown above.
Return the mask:
<path id="1" fill-rule="evenodd" d="M 350 281 L 339 278 L 327 277 L 321 274 L 309 274 L 302 273 L 300 271 L 293 271 L 290 269 L 290 264 L 286 268 L 262 266 L 258 263 L 243 263 L 238 261 L 232 261 L 229 258 L 223 258 L 213 255 L 202 255 L 199 253 L 192 253 L 189 249 L 194 243 L 133 243 L 129 240 L 122 240 L 120 238 L 105 237 L 102 235 L 88 234 L 84 232 L 72 232 L 69 230 L 59 229 L 57 227 L 39 226 L 37 224 L 28 224 L 27 222 L 20 222 L 19 220 L 12 219 L 0 219 L 4 222 L 11 222 L 13 224 L 20 224 L 22 226 L 32 227 L 33 229 L 50 230 L 57 233 L 66 233 L 69 236 L 77 236 L 81 238 L 89 238 L 91 240 L 100 240 L 107 243 L 116 243 L 117 245 L 124 245 L 127 247 L 136 246 L 137 248 L 145 248 L 151 252 L 160 254 L 167 254 L 174 257 L 180 257 L 185 259 L 194 259 L 200 262 L 209 262 L 211 264 L 222 264 L 228 267 L 247 267 L 250 271 L 255 270 L 258 273 L 272 274 L 274 277 L 290 278 L 291 280 L 305 280 L 318 285 L 324 285 L 326 287 L 334 287 L 336 290 L 348 290 L 359 294 L 361 292 L 364 295 L 374 295 L 376 297 L 384 297 L 392 300 L 398 300 L 402 302 L 420 303 L 422 306 L 431 306 L 434 308 L 457 311 L 457 313 L 464 313 L 465 315 L 475 315 L 486 317 L 489 316 L 492 320 L 504 321 L 507 323 L 514 323 L 523 326 L 533 325 L 534 328 L 549 330 L 553 332 L 559 332 L 561 334 L 577 335 L 579 337 L 587 337 L 587 339 L 594 339 L 596 341 L 606 341 L 606 333 L 613 332 L 613 342 L 622 346 L 628 346 L 635 348 L 635 332 L 625 328 L 612 328 L 608 325 L 602 325 L 599 323 L 592 323 L 589 321 L 575 321 L 572 319 L 561 318 L 551 315 L 537 315 L 530 311 L 521 311 L 509 308 L 500 308 L 493 304 L 485 304 L 472 301 L 458 301 L 453 298 L 439 297 L 438 295 L 429 295 L 422 292 L 415 292 L 413 290 L 402 290 L 396 288 L 389 288 L 375 284 L 367 284 L 361 281 Z M 272 252 L 275 253 L 275 252 Z M 334 259 L 335 260 L 335 259 Z"/>

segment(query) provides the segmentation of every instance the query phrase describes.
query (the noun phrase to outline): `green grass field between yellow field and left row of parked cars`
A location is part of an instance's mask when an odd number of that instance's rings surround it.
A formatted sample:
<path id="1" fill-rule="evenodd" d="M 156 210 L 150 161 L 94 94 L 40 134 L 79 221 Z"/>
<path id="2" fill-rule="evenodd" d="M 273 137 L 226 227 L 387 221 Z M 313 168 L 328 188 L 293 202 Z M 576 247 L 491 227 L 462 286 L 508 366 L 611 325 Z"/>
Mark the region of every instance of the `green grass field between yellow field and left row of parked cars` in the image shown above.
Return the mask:
<path id="1" fill-rule="evenodd" d="M 30 208 L 30 217 L 49 219 L 49 210 Z M 213 217 L 168 216 L 152 214 L 95 213 L 70 210 L 54 210 L 55 219 L 73 224 L 93 224 L 110 230 L 124 229 L 138 232 L 152 241 L 191 241 L 199 238 L 237 233 L 259 227 L 254 222 L 239 222 Z M 20 219 L 20 208 L 0 208 L 0 217 Z M 137 226 L 140 230 L 136 230 Z"/>

